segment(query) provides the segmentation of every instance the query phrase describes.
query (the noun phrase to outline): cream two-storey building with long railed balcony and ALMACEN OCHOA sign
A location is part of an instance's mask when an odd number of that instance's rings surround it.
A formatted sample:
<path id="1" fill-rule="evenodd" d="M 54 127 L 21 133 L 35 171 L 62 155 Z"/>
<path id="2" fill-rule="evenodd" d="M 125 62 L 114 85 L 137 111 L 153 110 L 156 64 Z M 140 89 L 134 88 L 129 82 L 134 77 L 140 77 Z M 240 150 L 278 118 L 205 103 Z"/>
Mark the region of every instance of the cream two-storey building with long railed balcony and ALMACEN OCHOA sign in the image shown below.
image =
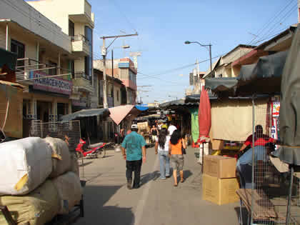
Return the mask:
<path id="1" fill-rule="evenodd" d="M 71 112 L 71 38 L 26 1 L 0 1 L 0 17 L 0 47 L 18 56 L 16 81 L 25 86 L 23 118 L 56 121 Z"/>

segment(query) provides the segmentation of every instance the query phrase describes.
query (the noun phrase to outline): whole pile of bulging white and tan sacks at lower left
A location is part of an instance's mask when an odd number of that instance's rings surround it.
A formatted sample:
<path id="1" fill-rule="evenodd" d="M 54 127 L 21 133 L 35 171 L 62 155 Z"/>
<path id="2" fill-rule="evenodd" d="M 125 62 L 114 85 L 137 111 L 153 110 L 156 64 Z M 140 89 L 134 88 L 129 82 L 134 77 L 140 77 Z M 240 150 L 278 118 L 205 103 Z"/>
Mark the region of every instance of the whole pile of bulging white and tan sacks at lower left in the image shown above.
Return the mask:
<path id="1" fill-rule="evenodd" d="M 79 204 L 79 166 L 65 141 L 29 137 L 0 144 L 0 153 L 0 205 L 17 224 L 45 224 Z"/>

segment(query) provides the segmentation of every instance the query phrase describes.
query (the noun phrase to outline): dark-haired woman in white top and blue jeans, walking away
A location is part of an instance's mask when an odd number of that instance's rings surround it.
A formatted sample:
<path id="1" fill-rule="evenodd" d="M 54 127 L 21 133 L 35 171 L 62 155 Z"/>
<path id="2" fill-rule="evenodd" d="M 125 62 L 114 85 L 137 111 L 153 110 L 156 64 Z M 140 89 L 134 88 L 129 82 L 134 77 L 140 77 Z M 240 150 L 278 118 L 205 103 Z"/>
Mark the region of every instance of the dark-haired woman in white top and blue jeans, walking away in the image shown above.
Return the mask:
<path id="1" fill-rule="evenodd" d="M 168 131 L 161 129 L 159 136 L 155 140 L 155 154 L 159 154 L 160 179 L 162 180 L 170 177 L 170 158 L 168 156 L 170 138 Z"/>

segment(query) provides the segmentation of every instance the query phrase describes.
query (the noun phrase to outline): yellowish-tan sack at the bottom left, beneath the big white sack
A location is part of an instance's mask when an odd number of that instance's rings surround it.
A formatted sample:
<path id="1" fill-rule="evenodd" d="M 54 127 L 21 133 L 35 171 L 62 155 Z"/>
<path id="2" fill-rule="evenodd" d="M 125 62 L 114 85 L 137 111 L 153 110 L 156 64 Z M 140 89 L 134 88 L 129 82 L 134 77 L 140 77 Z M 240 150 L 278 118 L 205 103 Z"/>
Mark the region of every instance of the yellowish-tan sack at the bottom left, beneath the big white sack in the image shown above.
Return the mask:
<path id="1" fill-rule="evenodd" d="M 17 224 L 44 225 L 59 212 L 59 195 L 51 180 L 47 180 L 24 196 L 0 196 L 0 204 L 7 206 Z M 7 224 L 0 215 L 0 224 Z"/>

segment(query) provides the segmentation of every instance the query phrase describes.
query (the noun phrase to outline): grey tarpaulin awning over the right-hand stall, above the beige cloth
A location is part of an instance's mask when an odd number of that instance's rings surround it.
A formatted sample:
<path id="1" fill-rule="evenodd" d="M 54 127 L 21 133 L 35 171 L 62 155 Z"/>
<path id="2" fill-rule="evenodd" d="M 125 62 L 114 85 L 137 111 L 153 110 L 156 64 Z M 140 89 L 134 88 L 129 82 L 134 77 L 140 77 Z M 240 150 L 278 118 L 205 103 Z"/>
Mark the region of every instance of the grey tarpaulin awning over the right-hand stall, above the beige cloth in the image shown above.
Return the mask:
<path id="1" fill-rule="evenodd" d="M 238 77 L 206 79 L 206 89 L 218 96 L 251 96 L 276 94 L 280 91 L 281 74 L 288 51 L 262 56 L 256 64 L 241 66 Z"/>

